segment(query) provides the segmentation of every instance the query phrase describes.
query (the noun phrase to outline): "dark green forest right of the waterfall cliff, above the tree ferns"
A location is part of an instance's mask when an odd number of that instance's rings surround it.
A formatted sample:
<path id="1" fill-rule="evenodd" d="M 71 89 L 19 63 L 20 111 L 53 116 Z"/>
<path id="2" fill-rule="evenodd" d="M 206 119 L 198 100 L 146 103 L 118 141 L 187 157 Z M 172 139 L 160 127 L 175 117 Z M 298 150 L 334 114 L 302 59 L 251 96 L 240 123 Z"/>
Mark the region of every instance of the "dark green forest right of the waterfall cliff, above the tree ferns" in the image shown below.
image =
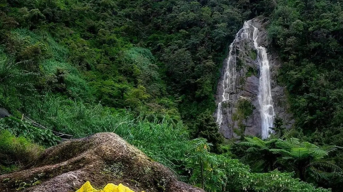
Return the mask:
<path id="1" fill-rule="evenodd" d="M 268 36 L 283 61 L 279 81 L 286 87 L 295 126 L 305 140 L 343 146 L 342 31 L 340 1 L 277 1 L 269 12 Z M 343 165 L 342 151 L 328 160 Z M 329 179 L 335 180 L 335 179 Z M 342 181 L 319 181 L 341 191 Z"/>

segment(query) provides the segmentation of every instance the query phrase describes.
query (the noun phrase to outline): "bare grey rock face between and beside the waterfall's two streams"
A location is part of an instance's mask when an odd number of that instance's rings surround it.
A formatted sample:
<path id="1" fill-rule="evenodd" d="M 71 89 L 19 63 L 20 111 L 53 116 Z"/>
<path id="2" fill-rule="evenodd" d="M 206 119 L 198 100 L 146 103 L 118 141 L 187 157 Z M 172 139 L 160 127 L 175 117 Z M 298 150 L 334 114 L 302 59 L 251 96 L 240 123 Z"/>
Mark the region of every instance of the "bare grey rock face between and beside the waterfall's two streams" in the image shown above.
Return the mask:
<path id="1" fill-rule="evenodd" d="M 277 59 L 277 54 L 268 49 L 267 31 L 265 26 L 267 21 L 259 18 L 252 20 L 252 25 L 259 29 L 258 44 L 267 47 L 269 65 L 271 70 L 271 95 L 273 99 L 275 116 L 281 118 L 284 127 L 290 128 L 294 122 L 292 115 L 287 112 L 287 99 L 284 89 L 277 84 L 277 74 L 281 67 L 281 62 Z M 243 135 L 261 136 L 261 115 L 258 101 L 259 76 L 260 69 L 257 61 L 257 51 L 254 49 L 253 41 L 244 39 L 234 44 L 233 49 L 236 57 L 236 81 L 234 88 L 229 93 L 229 100 L 222 103 L 223 120 L 220 126 L 220 132 L 225 138 L 237 138 Z M 223 63 L 223 72 L 218 81 L 216 102 L 222 100 L 223 93 L 223 73 L 227 65 L 227 59 Z M 239 113 L 245 110 L 251 110 L 248 105 L 239 105 L 242 99 L 248 99 L 253 106 L 252 112 L 248 116 L 242 116 Z M 218 111 L 214 114 L 217 117 Z"/>

